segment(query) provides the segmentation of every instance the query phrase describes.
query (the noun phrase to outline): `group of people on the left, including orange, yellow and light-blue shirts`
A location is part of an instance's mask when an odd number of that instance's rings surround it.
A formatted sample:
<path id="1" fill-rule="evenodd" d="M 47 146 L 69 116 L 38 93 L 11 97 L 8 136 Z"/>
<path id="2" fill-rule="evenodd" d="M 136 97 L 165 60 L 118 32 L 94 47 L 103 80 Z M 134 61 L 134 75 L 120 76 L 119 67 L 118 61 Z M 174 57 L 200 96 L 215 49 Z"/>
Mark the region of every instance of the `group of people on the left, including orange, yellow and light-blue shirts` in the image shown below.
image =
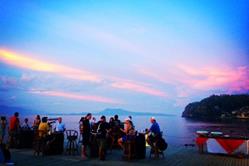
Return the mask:
<path id="1" fill-rule="evenodd" d="M 32 125 L 29 124 L 28 118 L 25 118 L 21 124 L 19 113 L 15 112 L 8 120 L 5 116 L 0 119 L 0 163 L 11 163 L 11 154 L 9 147 L 18 147 L 20 145 L 21 133 L 28 131 L 44 131 L 44 137 L 51 131 L 51 125 L 48 120 L 57 121 L 54 131 L 64 132 L 65 124 L 62 123 L 62 118 L 48 119 L 47 117 L 40 118 L 40 115 L 35 117 Z"/>

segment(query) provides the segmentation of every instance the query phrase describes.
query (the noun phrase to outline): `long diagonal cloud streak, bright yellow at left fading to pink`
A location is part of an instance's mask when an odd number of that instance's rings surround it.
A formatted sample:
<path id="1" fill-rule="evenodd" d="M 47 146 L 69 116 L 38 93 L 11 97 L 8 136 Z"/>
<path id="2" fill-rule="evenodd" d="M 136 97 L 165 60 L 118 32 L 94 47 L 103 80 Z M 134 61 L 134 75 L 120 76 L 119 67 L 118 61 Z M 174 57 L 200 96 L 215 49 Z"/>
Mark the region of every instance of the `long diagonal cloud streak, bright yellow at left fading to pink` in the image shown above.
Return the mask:
<path id="1" fill-rule="evenodd" d="M 145 83 L 97 74 L 86 70 L 79 70 L 65 65 L 49 63 L 4 49 L 0 49 L 0 61 L 23 69 L 52 73 L 73 80 L 94 82 L 103 84 L 104 86 L 112 87 L 114 89 L 124 89 L 152 96 L 166 97 L 164 92 L 157 90 Z M 30 78 L 22 77 L 21 79 L 27 81 Z"/>

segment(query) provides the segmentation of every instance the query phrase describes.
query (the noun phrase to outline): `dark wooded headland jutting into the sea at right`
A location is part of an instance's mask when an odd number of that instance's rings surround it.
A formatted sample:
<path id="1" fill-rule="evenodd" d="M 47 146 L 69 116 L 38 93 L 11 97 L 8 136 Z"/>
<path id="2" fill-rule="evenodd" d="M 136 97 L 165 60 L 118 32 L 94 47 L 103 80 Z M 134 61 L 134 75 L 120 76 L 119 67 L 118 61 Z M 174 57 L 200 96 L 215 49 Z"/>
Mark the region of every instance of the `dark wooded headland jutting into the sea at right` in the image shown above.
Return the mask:
<path id="1" fill-rule="evenodd" d="M 185 107 L 182 117 L 195 119 L 249 119 L 249 95 L 212 95 Z"/>

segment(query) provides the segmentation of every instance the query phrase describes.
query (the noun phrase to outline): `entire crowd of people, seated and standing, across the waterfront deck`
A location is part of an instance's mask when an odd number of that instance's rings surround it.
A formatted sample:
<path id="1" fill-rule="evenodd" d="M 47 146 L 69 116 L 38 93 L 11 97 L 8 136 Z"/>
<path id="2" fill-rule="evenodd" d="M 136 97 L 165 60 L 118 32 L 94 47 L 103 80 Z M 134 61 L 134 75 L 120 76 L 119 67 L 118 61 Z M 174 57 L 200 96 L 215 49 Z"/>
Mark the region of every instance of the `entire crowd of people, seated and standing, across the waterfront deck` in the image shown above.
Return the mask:
<path id="1" fill-rule="evenodd" d="M 156 119 L 150 118 L 152 123 L 151 127 L 146 130 L 146 133 L 150 133 L 146 141 L 150 146 L 155 146 L 155 141 L 158 137 L 161 137 L 161 131 Z M 34 119 L 32 126 L 28 123 L 28 118 L 24 119 L 21 125 L 19 119 L 19 113 L 14 113 L 10 117 L 9 127 L 7 127 L 6 117 L 1 117 L 0 121 L 0 152 L 3 153 L 4 162 L 10 161 L 9 146 L 19 143 L 18 134 L 20 131 L 39 131 L 39 136 L 46 138 L 50 132 L 64 133 L 66 130 L 65 124 L 62 122 L 62 118 L 48 119 L 48 117 L 40 117 L 37 115 Z M 52 123 L 55 123 L 52 128 Z M 134 139 L 136 136 L 135 126 L 132 121 L 132 117 L 128 116 L 124 122 L 119 120 L 118 115 L 111 117 L 107 122 L 106 117 L 103 115 L 99 121 L 96 122 L 96 118 L 92 117 L 91 113 L 88 113 L 85 117 L 82 117 L 79 121 L 79 130 L 82 136 L 82 158 L 86 159 L 87 148 L 90 146 L 91 138 L 94 136 L 97 139 L 98 144 L 98 156 L 100 160 L 105 160 L 105 155 L 108 145 L 118 145 L 124 148 L 124 143 L 128 140 Z M 63 134 L 64 135 L 64 134 Z M 63 138 L 64 139 L 64 138 Z M 108 144 L 108 142 L 111 142 Z"/>

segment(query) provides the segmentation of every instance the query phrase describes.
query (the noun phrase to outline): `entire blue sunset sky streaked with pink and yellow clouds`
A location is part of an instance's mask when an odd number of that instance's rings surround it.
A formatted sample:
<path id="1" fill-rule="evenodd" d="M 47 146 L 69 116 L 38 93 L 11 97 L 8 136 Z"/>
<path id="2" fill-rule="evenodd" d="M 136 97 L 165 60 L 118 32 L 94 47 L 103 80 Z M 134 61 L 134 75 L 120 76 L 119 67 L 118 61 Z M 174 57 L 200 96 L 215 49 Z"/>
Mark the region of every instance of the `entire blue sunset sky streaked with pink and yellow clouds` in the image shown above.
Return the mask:
<path id="1" fill-rule="evenodd" d="M 249 93 L 249 1 L 1 0 L 0 105 L 177 114 Z"/>

